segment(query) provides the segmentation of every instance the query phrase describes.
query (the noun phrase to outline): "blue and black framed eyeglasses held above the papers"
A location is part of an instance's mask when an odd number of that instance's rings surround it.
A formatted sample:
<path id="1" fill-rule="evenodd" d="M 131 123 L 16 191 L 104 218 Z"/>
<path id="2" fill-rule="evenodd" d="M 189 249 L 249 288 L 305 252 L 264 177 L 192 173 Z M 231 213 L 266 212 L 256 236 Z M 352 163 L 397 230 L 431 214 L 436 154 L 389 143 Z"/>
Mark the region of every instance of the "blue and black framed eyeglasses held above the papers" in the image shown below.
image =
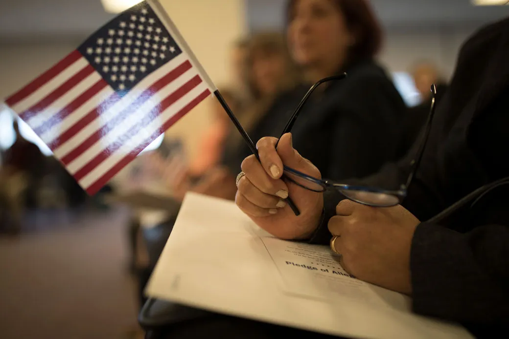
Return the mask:
<path id="1" fill-rule="evenodd" d="M 400 190 L 382 190 L 373 187 L 355 186 L 334 182 L 332 180 L 318 179 L 287 166 L 284 166 L 283 172 L 285 179 L 290 180 L 298 186 L 313 192 L 324 192 L 328 188 L 332 188 L 339 191 L 346 198 L 364 205 L 375 207 L 389 207 L 398 205 L 407 195 L 407 189 L 410 186 L 410 183 L 412 182 L 415 172 L 420 164 L 426 143 L 428 142 L 428 138 L 430 136 L 431 121 L 433 120 L 433 116 L 435 114 L 435 98 L 437 94 L 437 89 L 434 84 L 431 86 L 431 93 L 431 108 L 426 121 L 426 127 L 424 129 L 424 133 L 422 135 L 416 156 L 410 163 L 410 174 L 408 175 L 407 181 L 401 186 Z M 285 133 L 287 132 L 289 131 L 286 131 Z"/>

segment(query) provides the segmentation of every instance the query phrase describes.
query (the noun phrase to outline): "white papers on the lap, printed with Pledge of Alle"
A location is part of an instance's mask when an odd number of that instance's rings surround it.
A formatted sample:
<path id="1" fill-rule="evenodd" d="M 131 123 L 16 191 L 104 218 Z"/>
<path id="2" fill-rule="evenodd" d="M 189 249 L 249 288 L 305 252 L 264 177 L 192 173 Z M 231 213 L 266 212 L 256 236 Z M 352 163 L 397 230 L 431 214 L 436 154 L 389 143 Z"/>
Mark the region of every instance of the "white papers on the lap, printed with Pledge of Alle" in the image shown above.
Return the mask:
<path id="1" fill-rule="evenodd" d="M 410 299 L 348 274 L 327 246 L 272 237 L 229 201 L 188 194 L 149 281 L 152 297 L 358 338 L 471 338 Z"/>

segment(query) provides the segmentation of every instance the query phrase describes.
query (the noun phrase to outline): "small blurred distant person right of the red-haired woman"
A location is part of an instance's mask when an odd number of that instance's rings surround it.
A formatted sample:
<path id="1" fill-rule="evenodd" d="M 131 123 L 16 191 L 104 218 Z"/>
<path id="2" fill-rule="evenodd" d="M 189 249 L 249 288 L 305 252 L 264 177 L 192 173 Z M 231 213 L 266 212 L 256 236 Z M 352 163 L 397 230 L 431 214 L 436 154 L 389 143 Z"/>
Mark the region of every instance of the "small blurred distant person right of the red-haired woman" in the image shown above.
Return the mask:
<path id="1" fill-rule="evenodd" d="M 419 92 L 421 103 L 410 107 L 403 120 L 403 132 L 399 151 L 401 156 L 406 155 L 407 151 L 412 147 L 420 134 L 422 126 L 426 122 L 431 107 L 431 84 L 435 84 L 437 87 L 437 95 L 435 97 L 437 104 L 447 90 L 447 85 L 441 77 L 440 71 L 430 61 L 419 61 L 416 63 L 412 70 L 412 77 L 415 88 Z"/>

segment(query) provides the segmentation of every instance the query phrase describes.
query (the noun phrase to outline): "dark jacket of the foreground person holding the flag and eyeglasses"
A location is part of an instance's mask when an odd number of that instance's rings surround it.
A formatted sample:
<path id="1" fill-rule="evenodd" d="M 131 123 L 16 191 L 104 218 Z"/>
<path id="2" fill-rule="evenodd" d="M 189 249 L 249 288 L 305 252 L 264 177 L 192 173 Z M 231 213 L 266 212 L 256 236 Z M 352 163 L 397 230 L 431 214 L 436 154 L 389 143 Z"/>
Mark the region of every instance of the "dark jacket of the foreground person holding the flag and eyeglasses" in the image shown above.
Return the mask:
<path id="1" fill-rule="evenodd" d="M 414 311 L 460 322 L 488 337 L 490 330 L 509 325 L 509 185 L 473 205 L 475 199 L 469 199 L 439 213 L 509 176 L 508 46 L 509 19 L 479 30 L 463 45 L 403 203 L 419 220 L 429 220 L 417 227 L 412 240 Z M 412 157 L 364 182 L 397 187 Z M 314 242 L 328 243 L 327 220 L 341 198 L 325 194 L 325 218 Z"/>

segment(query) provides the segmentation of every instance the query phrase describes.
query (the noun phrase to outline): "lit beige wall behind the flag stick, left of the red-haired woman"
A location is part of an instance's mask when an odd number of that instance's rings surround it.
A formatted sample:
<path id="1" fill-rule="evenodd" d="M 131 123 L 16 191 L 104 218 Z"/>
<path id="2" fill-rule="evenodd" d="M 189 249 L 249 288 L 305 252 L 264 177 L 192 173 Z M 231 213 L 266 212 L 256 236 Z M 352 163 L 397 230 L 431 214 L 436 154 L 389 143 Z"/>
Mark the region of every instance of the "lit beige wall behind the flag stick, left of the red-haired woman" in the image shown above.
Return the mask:
<path id="1" fill-rule="evenodd" d="M 244 0 L 160 0 L 216 86 L 231 78 L 229 52 L 233 41 L 246 32 Z M 212 97 L 211 97 L 212 98 Z M 168 132 L 182 136 L 187 150 L 195 153 L 199 135 L 210 122 L 209 99 Z"/>

